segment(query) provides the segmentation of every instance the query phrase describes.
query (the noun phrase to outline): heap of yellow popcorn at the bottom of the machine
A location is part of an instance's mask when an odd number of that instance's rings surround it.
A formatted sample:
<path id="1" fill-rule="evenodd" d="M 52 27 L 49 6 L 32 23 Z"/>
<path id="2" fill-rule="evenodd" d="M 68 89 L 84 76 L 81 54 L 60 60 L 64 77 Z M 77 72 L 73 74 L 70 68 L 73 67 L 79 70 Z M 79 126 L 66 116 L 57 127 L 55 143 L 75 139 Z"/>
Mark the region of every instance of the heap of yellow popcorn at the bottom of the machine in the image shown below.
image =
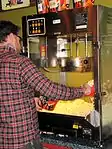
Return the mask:
<path id="1" fill-rule="evenodd" d="M 86 117 L 94 110 L 94 97 L 73 100 L 59 100 L 53 111 L 43 109 L 42 112 Z"/>

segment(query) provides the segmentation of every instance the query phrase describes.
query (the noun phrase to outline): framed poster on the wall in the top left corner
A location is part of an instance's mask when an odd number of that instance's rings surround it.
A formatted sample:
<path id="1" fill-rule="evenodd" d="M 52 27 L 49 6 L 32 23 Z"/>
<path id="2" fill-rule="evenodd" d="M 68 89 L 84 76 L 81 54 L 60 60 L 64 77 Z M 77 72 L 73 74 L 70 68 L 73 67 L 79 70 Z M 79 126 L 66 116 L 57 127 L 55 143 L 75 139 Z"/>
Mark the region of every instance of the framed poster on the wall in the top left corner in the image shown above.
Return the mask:
<path id="1" fill-rule="evenodd" d="M 1 0 L 2 10 L 11 10 L 30 6 L 30 0 Z"/>

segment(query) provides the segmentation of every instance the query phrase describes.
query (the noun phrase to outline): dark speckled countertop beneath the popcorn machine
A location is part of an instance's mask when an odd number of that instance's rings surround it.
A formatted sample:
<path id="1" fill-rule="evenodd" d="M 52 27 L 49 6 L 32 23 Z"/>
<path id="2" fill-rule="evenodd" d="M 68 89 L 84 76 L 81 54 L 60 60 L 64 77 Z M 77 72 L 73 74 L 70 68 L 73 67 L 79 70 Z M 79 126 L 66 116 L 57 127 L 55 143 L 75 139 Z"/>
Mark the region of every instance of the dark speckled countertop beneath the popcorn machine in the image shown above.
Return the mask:
<path id="1" fill-rule="evenodd" d="M 53 135 L 41 134 L 41 142 L 44 144 L 55 144 L 61 149 L 67 147 L 68 149 L 99 149 L 98 144 L 88 140 L 73 140 L 73 138 L 59 137 Z M 57 149 L 56 148 L 56 149 Z M 52 148 L 55 149 L 55 148 Z"/>

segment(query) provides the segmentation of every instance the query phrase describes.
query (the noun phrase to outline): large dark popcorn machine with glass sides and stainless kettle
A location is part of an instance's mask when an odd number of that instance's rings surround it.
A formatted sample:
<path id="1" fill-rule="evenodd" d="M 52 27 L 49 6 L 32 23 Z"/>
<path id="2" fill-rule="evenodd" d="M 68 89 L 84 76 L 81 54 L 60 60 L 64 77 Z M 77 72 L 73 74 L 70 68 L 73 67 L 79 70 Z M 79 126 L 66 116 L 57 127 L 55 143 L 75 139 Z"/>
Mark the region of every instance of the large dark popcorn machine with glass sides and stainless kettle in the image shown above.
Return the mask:
<path id="1" fill-rule="evenodd" d="M 59 100 L 54 109 L 38 112 L 42 134 L 100 145 L 112 135 L 111 10 L 94 6 L 23 16 L 23 50 L 38 69 L 68 86 L 95 84 L 94 97 Z"/>

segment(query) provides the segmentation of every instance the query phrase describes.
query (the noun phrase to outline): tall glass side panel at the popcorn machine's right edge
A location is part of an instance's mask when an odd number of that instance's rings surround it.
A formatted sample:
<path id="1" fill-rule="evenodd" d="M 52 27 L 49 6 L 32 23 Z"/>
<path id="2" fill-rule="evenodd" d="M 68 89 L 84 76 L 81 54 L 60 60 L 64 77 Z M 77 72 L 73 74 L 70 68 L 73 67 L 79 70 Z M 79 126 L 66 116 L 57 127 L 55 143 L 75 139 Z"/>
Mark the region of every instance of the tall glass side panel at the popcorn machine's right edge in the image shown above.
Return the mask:
<path id="1" fill-rule="evenodd" d="M 101 33 L 101 89 L 103 137 L 112 135 L 112 8 L 104 8 Z"/>

